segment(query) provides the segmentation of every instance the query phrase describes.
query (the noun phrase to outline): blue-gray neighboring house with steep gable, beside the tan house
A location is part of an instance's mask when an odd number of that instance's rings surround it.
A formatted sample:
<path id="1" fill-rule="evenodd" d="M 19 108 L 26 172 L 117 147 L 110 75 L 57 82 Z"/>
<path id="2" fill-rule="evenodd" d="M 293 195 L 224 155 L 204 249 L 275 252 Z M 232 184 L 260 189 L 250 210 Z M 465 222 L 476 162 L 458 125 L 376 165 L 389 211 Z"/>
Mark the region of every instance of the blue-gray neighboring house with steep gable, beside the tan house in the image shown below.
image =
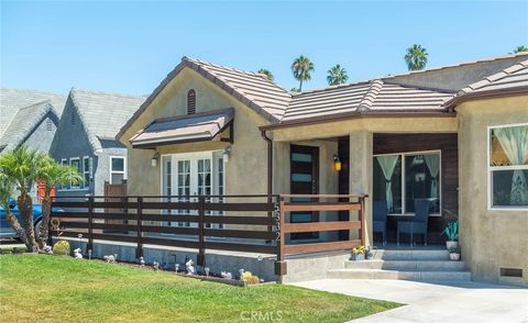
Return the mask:
<path id="1" fill-rule="evenodd" d="M 57 188 L 57 196 L 105 193 L 105 182 L 127 179 L 127 148 L 114 140 L 119 129 L 144 101 L 73 88 L 52 143 L 52 156 L 82 174 L 85 181 Z"/>

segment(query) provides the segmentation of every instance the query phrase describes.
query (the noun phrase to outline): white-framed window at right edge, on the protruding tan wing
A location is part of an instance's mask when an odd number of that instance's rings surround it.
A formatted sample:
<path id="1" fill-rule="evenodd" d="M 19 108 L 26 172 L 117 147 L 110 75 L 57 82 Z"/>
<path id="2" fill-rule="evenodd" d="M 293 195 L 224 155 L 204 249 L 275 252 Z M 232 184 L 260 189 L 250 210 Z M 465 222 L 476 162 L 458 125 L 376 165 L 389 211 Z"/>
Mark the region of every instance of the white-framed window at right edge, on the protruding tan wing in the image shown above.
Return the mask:
<path id="1" fill-rule="evenodd" d="M 528 209 L 528 124 L 488 127 L 488 208 Z"/>

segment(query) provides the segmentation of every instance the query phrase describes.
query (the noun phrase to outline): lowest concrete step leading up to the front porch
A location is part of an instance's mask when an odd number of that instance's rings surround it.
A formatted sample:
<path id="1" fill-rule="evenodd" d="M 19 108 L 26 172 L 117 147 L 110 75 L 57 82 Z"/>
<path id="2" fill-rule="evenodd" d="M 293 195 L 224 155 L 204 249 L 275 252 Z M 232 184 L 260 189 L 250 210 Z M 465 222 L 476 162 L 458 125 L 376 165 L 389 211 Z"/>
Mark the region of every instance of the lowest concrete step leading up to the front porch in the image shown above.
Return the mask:
<path id="1" fill-rule="evenodd" d="M 403 279 L 418 281 L 469 281 L 470 271 L 417 271 L 417 270 L 383 270 L 383 269 L 332 269 L 327 271 L 327 278 L 337 279 Z"/>

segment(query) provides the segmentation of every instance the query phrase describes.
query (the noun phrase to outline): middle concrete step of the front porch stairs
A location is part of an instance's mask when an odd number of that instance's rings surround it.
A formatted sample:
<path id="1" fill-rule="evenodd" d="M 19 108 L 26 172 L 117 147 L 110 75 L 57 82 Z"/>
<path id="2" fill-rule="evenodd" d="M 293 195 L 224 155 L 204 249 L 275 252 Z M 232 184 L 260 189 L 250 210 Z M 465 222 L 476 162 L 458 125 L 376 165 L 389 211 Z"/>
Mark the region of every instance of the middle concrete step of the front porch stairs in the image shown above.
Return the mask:
<path id="1" fill-rule="evenodd" d="M 413 271 L 462 271 L 464 261 L 452 260 L 360 260 L 345 261 L 348 269 L 385 269 L 385 270 L 413 270 Z"/>

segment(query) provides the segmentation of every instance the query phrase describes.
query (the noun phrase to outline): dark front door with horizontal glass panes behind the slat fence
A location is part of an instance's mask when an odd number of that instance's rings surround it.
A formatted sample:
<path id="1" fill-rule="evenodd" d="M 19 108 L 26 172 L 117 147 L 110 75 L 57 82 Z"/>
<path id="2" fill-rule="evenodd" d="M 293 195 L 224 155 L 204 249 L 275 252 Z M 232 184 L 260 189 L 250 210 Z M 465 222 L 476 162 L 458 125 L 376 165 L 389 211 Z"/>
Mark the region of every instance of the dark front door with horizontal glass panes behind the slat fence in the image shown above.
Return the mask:
<path id="1" fill-rule="evenodd" d="M 319 147 L 290 145 L 290 192 L 292 194 L 319 193 Z M 311 198 L 292 198 L 292 202 L 311 202 Z M 318 212 L 290 212 L 290 223 L 318 222 Z M 319 233 L 293 233 L 292 241 L 319 238 Z"/>

